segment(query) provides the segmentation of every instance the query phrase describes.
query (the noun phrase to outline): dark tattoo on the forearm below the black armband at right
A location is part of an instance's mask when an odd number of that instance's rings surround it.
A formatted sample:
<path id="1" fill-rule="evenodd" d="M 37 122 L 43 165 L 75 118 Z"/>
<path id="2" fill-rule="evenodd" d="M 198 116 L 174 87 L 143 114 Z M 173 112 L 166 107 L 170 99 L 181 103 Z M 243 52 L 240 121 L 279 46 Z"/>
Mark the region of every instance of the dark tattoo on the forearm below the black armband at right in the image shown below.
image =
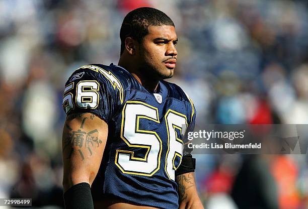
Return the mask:
<path id="1" fill-rule="evenodd" d="M 194 176 L 192 173 L 178 175 L 176 182 L 178 183 L 179 201 L 183 201 L 187 198 L 187 189 L 194 186 Z"/>

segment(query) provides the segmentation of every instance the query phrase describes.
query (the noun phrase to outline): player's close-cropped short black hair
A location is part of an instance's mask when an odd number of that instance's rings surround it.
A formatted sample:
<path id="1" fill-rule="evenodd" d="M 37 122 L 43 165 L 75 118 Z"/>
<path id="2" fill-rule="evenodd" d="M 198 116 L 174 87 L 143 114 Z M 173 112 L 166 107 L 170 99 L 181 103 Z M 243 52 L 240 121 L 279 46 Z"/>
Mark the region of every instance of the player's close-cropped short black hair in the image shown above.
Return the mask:
<path id="1" fill-rule="evenodd" d="M 131 37 L 141 43 L 142 38 L 148 34 L 149 26 L 173 26 L 173 21 L 162 11 L 141 7 L 129 12 L 122 23 L 120 30 L 121 54 L 125 48 L 125 39 Z"/>

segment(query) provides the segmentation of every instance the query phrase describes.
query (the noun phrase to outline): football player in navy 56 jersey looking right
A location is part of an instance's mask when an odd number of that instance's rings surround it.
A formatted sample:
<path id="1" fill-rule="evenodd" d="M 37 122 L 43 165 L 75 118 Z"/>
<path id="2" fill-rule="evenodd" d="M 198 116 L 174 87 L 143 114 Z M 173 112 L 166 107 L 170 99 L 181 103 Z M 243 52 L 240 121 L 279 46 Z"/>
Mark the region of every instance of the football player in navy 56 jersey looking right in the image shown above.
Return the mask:
<path id="1" fill-rule="evenodd" d="M 196 111 L 164 81 L 177 62 L 174 23 L 139 8 L 124 18 L 120 38 L 118 65 L 82 66 L 65 84 L 65 207 L 203 208 L 184 146 Z"/>

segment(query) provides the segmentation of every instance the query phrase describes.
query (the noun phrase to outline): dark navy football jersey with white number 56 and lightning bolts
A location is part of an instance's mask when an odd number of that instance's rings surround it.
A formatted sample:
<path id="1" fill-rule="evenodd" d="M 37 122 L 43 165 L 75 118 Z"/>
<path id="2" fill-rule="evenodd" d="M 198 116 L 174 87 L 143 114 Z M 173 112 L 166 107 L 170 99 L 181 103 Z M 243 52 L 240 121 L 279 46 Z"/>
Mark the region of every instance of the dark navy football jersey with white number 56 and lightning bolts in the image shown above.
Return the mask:
<path id="1" fill-rule="evenodd" d="M 77 69 L 65 84 L 67 115 L 87 112 L 108 124 L 108 139 L 93 199 L 116 197 L 159 208 L 178 208 L 175 170 L 192 131 L 196 111 L 176 84 L 159 81 L 158 92 L 145 89 L 117 65 Z"/>

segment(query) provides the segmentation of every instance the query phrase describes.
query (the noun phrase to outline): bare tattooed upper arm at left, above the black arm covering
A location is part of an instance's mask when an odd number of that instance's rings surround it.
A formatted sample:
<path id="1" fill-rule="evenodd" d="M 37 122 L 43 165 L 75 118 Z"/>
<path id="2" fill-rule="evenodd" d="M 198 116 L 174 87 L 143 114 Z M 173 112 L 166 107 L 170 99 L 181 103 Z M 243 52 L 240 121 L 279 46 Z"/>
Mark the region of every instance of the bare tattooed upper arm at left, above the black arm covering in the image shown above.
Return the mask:
<path id="1" fill-rule="evenodd" d="M 64 192 L 78 183 L 94 181 L 108 135 L 105 121 L 91 113 L 66 118 L 62 135 Z"/>

